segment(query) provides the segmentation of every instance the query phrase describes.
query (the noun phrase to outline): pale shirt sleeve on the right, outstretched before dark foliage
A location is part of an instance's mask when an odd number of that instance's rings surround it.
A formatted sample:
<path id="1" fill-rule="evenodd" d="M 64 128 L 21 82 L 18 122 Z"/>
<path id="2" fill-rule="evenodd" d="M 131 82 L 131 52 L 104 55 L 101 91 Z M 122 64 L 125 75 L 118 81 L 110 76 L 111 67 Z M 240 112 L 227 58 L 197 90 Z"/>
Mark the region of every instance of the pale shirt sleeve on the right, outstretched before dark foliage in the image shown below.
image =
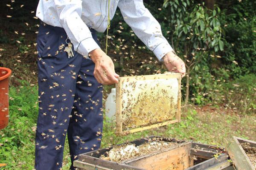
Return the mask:
<path id="1" fill-rule="evenodd" d="M 173 51 L 169 42 L 163 37 L 160 24 L 145 8 L 143 0 L 120 0 L 118 7 L 125 22 L 147 48 L 154 52 L 157 59 L 162 61 L 165 54 Z"/>

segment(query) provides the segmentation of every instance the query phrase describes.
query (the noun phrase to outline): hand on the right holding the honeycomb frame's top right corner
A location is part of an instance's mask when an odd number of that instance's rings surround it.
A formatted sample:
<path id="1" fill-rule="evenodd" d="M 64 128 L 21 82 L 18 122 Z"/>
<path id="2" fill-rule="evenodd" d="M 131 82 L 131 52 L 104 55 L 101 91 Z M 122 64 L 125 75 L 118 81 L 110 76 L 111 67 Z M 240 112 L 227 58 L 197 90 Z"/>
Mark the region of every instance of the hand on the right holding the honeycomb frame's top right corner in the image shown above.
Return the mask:
<path id="1" fill-rule="evenodd" d="M 167 53 L 163 57 L 163 62 L 166 65 L 168 71 L 173 71 L 175 73 L 181 73 L 181 77 L 184 77 L 186 74 L 185 63 L 180 57 L 178 57 L 173 51 Z"/>

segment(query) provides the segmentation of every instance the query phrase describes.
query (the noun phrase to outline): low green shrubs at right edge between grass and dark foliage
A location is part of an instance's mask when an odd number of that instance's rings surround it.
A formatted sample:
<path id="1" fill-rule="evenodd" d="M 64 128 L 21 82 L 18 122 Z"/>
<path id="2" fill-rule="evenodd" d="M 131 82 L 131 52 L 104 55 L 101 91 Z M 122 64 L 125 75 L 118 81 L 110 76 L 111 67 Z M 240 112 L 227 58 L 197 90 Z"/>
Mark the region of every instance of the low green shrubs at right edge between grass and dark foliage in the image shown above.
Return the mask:
<path id="1" fill-rule="evenodd" d="M 206 103 L 223 105 L 239 114 L 256 113 L 256 75 L 248 74 L 230 81 L 227 71 L 219 69 L 215 72 L 223 75 L 222 78 L 215 79 L 210 74 L 204 74 L 207 78 L 195 78 L 196 82 L 194 81 L 193 85 L 197 88 L 192 94 L 192 101 L 198 105 Z"/>

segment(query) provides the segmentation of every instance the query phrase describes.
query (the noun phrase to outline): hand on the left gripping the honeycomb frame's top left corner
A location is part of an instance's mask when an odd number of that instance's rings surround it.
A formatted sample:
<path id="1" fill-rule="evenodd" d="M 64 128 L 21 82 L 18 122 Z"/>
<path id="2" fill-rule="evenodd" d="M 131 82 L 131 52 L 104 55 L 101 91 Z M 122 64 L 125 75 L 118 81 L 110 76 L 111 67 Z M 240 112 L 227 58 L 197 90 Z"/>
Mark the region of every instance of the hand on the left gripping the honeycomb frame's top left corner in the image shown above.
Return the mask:
<path id="1" fill-rule="evenodd" d="M 103 85 L 118 83 L 119 75 L 115 72 L 112 59 L 100 48 L 89 53 L 90 58 L 95 63 L 93 75 L 96 80 Z"/>

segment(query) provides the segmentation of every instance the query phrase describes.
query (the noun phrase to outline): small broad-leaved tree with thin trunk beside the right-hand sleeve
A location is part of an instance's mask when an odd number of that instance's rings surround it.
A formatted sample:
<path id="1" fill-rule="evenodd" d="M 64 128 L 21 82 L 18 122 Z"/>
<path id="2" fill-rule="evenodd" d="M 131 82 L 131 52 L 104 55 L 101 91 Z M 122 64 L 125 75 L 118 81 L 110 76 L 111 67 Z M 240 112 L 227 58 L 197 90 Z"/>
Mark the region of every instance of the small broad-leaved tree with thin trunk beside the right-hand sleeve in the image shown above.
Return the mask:
<path id="1" fill-rule="evenodd" d="M 179 56 L 183 57 L 186 65 L 186 88 L 189 89 L 192 84 L 192 88 L 194 88 L 192 91 L 197 91 L 197 88 L 201 87 L 196 85 L 202 86 L 200 72 L 209 70 L 212 61 L 216 60 L 210 56 L 215 57 L 215 53 L 224 50 L 222 28 L 218 19 L 221 10 L 218 7 L 209 10 L 204 3 L 196 4 L 193 0 L 165 0 L 164 7 L 171 8 L 171 23 L 175 27 L 172 44 Z M 177 13 L 179 14 L 176 15 Z M 195 82 L 189 83 L 190 75 L 193 75 Z M 209 75 L 207 75 L 208 78 Z M 209 81 L 207 77 L 204 77 L 203 80 Z M 201 104 L 204 97 L 197 95 L 195 99 L 198 104 Z M 185 103 L 188 100 L 189 91 L 186 91 Z"/>

